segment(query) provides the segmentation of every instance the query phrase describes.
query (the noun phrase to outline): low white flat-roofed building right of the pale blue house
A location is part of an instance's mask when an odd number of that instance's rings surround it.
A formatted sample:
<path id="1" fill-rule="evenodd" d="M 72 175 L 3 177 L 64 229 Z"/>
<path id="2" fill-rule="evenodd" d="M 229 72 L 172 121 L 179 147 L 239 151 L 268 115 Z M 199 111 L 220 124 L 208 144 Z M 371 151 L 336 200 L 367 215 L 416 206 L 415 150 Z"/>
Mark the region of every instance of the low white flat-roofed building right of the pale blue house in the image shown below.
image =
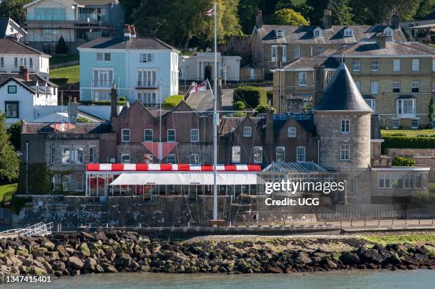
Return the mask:
<path id="1" fill-rule="evenodd" d="M 240 80 L 240 56 L 224 56 L 217 53 L 218 77 L 224 82 Z M 183 55 L 180 65 L 180 80 L 202 81 L 213 79 L 214 53 L 196 53 L 195 55 Z"/>

